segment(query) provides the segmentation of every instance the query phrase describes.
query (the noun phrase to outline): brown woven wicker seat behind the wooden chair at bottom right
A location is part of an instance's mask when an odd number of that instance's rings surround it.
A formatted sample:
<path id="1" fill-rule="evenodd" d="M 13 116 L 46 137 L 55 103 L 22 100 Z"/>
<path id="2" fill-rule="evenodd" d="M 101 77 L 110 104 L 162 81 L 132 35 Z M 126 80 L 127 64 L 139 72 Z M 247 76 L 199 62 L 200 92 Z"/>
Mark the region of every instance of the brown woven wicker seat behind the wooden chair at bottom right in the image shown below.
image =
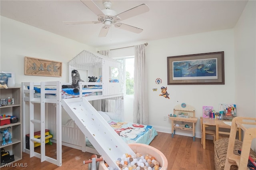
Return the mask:
<path id="1" fill-rule="evenodd" d="M 242 141 L 235 140 L 235 146 L 234 146 L 234 154 L 238 154 L 238 150 L 242 148 Z M 215 160 L 215 169 L 216 170 L 224 170 L 226 155 L 228 150 L 228 138 L 222 138 L 219 140 L 216 140 L 214 142 L 214 160 Z M 250 150 L 250 156 L 253 158 L 256 157 L 256 153 L 251 149 Z M 232 165 L 230 167 L 230 170 L 238 170 L 238 166 Z"/>

